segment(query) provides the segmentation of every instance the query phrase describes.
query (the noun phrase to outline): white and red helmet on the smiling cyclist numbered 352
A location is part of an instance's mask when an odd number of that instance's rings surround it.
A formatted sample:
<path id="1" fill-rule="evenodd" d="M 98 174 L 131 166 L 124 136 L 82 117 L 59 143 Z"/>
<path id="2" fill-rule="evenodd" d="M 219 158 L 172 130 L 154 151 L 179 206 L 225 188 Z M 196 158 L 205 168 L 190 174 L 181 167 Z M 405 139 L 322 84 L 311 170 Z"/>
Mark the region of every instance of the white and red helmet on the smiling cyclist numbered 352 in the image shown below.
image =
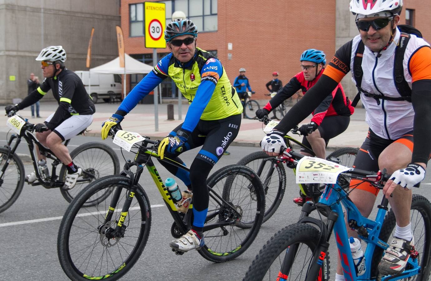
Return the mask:
<path id="1" fill-rule="evenodd" d="M 403 8 L 403 0 L 351 0 L 350 12 L 353 15 L 381 16 L 379 12 L 390 12 L 399 15 Z M 388 14 L 388 16 L 391 16 Z"/>

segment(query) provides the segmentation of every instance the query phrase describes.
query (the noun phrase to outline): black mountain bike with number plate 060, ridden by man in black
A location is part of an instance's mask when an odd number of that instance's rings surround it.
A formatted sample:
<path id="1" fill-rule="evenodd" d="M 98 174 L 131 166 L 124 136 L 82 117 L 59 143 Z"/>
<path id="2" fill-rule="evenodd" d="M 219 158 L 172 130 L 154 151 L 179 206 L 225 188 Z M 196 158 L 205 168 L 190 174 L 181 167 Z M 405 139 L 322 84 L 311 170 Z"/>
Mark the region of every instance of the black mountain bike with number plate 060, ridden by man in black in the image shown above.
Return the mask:
<path id="1" fill-rule="evenodd" d="M 11 134 L 4 147 L 0 147 L 0 212 L 12 206 L 18 199 L 24 186 L 24 164 L 16 154 L 16 150 L 22 139 L 28 144 L 34 172 L 37 177 L 37 180 L 31 183 L 31 186 L 42 185 L 45 188 L 59 187 L 62 196 L 68 202 L 71 202 L 75 195 L 92 181 L 105 175 L 119 173 L 120 165 L 115 151 L 106 144 L 89 142 L 80 145 L 70 153 L 73 162 L 82 168 L 82 174 L 76 181 L 75 187 L 70 190 L 63 189 L 62 187 L 67 175 L 66 166 L 62 164 L 51 150 L 37 141 L 33 134 L 34 125 L 28 122 L 28 119 L 19 116 L 13 111 L 9 112 L 8 116 L 7 125 L 16 133 Z M 67 146 L 69 142 L 70 140 L 67 140 L 64 144 Z M 34 155 L 34 145 L 37 145 L 40 153 L 46 156 L 47 159 L 53 160 L 49 178 L 45 178 L 38 169 L 37 158 Z M 58 165 L 60 165 L 59 175 L 57 175 L 56 169 Z M 95 202 L 97 201 L 88 201 L 86 204 L 91 205 Z"/>

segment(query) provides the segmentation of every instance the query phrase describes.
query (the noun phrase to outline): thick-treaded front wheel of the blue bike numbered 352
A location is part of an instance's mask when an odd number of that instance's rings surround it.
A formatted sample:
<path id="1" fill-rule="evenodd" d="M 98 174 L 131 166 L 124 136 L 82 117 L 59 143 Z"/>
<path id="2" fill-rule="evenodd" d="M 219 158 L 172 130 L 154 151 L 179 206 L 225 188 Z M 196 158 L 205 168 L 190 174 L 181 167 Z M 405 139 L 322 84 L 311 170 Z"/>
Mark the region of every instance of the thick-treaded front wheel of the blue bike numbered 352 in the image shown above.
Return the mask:
<path id="1" fill-rule="evenodd" d="M 319 238 L 319 231 L 304 223 L 281 229 L 259 251 L 243 281 L 276 280 L 280 273 L 288 275 L 288 280 L 305 280 Z M 329 280 L 329 253 L 318 276 L 319 281 Z"/>

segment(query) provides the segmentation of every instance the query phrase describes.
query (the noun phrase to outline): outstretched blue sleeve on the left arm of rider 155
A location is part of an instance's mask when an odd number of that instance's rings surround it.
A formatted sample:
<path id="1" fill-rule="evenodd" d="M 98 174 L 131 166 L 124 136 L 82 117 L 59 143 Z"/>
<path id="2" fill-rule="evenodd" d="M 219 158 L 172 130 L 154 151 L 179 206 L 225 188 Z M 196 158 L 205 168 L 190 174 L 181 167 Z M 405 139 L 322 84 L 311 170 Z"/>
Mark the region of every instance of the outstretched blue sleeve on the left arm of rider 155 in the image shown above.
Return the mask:
<path id="1" fill-rule="evenodd" d="M 129 113 L 150 91 L 168 77 L 169 59 L 172 53 L 160 59 L 153 70 L 148 73 L 122 101 L 118 110 Z"/>

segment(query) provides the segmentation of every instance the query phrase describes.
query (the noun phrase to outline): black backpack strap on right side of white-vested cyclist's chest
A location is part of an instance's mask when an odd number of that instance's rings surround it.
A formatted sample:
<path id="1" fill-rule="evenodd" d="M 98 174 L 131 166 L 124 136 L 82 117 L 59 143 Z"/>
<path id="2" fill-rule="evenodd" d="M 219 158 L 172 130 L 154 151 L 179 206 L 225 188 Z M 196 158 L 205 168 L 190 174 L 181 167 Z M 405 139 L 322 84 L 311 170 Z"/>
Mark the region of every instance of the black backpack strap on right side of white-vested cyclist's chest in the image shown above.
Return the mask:
<path id="1" fill-rule="evenodd" d="M 400 41 L 398 42 L 398 46 L 395 48 L 395 59 L 394 59 L 394 82 L 395 87 L 397 88 L 398 93 L 403 100 L 407 100 L 412 102 L 412 89 L 410 89 L 409 84 L 404 77 L 404 67 L 403 67 L 403 59 L 404 53 L 406 52 L 407 44 L 409 43 L 410 35 L 404 32 L 401 32 Z"/>

